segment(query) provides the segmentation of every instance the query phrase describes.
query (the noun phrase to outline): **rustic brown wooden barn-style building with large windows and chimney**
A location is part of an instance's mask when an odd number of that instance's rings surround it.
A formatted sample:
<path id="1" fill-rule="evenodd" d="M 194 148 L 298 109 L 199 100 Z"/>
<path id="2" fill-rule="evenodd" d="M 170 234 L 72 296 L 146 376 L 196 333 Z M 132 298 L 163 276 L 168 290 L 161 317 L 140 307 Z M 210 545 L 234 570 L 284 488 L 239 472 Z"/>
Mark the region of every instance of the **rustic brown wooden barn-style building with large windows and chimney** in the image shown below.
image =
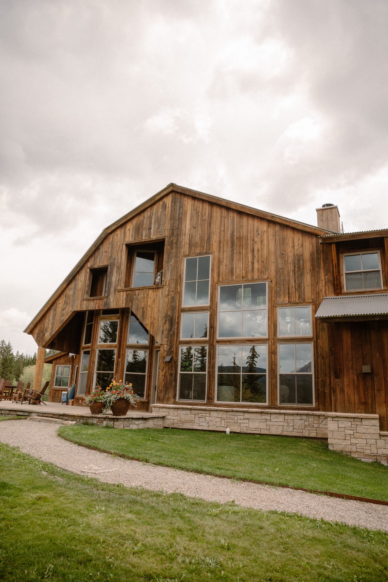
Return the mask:
<path id="1" fill-rule="evenodd" d="M 181 411 L 183 426 L 198 410 L 281 410 L 378 414 L 388 431 L 388 230 L 340 233 L 334 205 L 317 215 L 169 184 L 108 226 L 25 330 L 37 369 L 59 350 L 49 400 L 76 384 L 80 404 L 117 375 L 138 410 Z"/>

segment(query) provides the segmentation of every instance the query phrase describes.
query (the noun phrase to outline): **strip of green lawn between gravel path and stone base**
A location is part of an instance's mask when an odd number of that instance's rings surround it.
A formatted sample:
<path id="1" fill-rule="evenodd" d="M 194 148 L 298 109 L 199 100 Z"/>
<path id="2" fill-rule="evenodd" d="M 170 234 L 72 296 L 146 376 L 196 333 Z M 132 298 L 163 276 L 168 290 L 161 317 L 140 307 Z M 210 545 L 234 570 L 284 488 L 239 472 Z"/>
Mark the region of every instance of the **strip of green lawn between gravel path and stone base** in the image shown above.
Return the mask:
<path id="1" fill-rule="evenodd" d="M 334 452 L 322 441 L 96 425 L 60 427 L 59 434 L 76 443 L 177 469 L 388 501 L 388 467 Z"/>

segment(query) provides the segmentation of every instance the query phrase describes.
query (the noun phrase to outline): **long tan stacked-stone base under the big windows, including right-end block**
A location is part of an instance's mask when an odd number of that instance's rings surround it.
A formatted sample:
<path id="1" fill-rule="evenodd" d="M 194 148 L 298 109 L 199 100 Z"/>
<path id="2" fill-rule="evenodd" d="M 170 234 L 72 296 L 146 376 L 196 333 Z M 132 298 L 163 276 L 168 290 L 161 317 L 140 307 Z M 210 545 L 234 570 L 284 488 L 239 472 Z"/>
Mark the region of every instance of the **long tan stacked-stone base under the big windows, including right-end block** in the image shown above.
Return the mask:
<path id="1" fill-rule="evenodd" d="M 327 438 L 329 448 L 362 460 L 388 463 L 388 432 L 380 432 L 378 414 L 315 410 L 270 410 L 154 404 L 163 426 L 248 432 L 287 437 Z"/>

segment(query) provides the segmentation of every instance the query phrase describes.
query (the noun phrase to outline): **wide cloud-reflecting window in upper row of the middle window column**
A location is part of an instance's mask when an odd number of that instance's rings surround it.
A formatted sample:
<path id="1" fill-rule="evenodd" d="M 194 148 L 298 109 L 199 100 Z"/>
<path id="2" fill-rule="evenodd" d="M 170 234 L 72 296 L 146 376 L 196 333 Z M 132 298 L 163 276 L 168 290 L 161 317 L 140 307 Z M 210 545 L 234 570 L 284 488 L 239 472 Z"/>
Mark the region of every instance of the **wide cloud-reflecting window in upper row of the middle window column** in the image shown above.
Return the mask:
<path id="1" fill-rule="evenodd" d="M 267 284 L 220 285 L 219 338 L 266 338 Z"/>

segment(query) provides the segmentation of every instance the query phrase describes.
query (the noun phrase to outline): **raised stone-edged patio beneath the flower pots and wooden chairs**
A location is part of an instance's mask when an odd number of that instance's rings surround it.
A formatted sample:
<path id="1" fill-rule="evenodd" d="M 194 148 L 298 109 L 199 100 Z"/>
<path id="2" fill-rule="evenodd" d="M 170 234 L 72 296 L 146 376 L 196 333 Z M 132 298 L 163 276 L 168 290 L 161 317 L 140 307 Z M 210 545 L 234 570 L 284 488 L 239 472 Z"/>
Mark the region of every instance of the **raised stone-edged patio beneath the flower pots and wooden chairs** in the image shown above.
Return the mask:
<path id="1" fill-rule="evenodd" d="M 60 402 L 44 404 L 16 404 L 9 400 L 0 402 L 0 414 L 8 416 L 35 416 L 43 418 L 58 418 L 62 421 L 75 421 L 76 424 L 93 423 L 113 428 L 163 428 L 163 413 L 149 413 L 130 410 L 126 416 L 107 414 L 92 414 L 87 406 L 66 406 Z"/>

